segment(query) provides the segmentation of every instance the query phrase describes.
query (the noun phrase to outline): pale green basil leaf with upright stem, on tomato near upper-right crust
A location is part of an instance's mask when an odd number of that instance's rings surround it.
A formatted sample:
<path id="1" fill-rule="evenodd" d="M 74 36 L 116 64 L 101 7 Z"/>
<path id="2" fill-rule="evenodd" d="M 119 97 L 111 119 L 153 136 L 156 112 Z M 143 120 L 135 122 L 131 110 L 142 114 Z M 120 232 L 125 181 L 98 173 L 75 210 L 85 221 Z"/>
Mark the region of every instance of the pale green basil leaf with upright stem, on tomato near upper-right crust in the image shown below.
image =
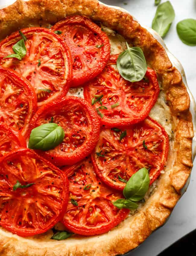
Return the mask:
<path id="1" fill-rule="evenodd" d="M 122 52 L 117 59 L 117 68 L 120 75 L 130 81 L 141 81 L 147 71 L 147 63 L 142 49 L 139 47 L 129 47 Z"/>

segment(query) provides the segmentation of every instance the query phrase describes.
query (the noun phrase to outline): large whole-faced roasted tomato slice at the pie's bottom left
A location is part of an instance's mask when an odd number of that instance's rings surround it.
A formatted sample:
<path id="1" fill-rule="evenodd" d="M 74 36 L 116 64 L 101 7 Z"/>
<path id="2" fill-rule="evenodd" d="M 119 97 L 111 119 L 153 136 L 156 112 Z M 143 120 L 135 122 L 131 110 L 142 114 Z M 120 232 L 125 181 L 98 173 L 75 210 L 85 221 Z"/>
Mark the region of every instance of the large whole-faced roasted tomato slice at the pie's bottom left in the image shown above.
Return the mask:
<path id="1" fill-rule="evenodd" d="M 17 181 L 26 188 L 14 190 Z M 18 149 L 1 158 L 2 227 L 23 237 L 44 233 L 62 218 L 67 203 L 67 176 L 33 150 Z"/>

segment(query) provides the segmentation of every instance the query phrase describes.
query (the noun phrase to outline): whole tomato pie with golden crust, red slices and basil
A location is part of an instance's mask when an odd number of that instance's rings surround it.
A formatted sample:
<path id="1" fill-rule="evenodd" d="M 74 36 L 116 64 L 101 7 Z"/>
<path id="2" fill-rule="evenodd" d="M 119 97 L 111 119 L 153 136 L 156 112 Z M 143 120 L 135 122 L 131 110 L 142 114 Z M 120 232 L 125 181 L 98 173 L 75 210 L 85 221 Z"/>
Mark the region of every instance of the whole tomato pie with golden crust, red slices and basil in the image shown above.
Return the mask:
<path id="1" fill-rule="evenodd" d="M 191 173 L 180 72 L 96 0 L 17 0 L 0 17 L 0 254 L 136 248 Z"/>

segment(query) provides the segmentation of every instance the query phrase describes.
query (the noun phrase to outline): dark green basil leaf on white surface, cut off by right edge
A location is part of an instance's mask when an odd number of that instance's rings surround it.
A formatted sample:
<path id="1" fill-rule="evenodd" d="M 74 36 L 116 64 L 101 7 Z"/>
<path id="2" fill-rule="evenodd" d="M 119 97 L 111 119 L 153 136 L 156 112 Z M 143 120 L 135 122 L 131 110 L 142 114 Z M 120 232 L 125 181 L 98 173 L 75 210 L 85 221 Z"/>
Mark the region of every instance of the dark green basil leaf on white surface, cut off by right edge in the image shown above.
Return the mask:
<path id="1" fill-rule="evenodd" d="M 195 19 L 185 19 L 178 22 L 177 33 L 180 40 L 190 46 L 196 45 L 196 20 Z"/>

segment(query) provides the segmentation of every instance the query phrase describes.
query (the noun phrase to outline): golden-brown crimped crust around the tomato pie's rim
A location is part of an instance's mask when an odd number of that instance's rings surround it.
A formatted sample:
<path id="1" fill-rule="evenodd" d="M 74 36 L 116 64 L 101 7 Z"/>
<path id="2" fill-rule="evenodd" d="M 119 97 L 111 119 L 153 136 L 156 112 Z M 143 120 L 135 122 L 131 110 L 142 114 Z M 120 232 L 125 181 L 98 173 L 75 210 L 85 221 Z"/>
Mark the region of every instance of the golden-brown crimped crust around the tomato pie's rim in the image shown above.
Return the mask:
<path id="1" fill-rule="evenodd" d="M 174 140 L 157 189 L 143 208 L 112 231 L 94 237 L 49 240 L 52 231 L 34 238 L 21 238 L 0 229 L 1 256 L 79 256 L 123 254 L 141 244 L 156 228 L 165 223 L 180 198 L 192 168 L 193 124 L 190 99 L 179 71 L 172 67 L 165 49 L 132 16 L 101 5 L 96 0 L 18 0 L 0 10 L 0 38 L 19 27 L 54 24 L 69 15 L 85 15 L 116 30 L 128 42 L 142 48 L 147 63 L 157 73 L 171 110 Z"/>

